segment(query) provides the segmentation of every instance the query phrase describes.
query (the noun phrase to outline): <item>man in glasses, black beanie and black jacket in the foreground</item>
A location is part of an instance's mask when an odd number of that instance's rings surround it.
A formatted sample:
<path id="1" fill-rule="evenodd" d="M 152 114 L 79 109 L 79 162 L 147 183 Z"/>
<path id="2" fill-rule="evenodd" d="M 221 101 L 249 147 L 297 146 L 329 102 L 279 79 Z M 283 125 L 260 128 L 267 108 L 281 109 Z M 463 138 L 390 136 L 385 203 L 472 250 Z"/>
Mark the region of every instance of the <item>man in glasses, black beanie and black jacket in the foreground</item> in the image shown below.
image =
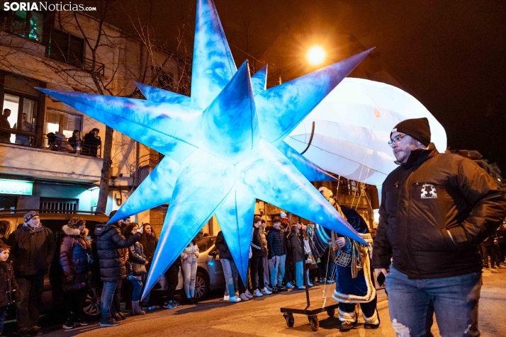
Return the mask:
<path id="1" fill-rule="evenodd" d="M 399 167 L 383 183 L 372 264 L 393 328 L 432 336 L 435 312 L 442 336 L 479 336 L 479 245 L 506 217 L 505 195 L 470 159 L 437 152 L 427 118 L 395 125 L 388 144 Z"/>

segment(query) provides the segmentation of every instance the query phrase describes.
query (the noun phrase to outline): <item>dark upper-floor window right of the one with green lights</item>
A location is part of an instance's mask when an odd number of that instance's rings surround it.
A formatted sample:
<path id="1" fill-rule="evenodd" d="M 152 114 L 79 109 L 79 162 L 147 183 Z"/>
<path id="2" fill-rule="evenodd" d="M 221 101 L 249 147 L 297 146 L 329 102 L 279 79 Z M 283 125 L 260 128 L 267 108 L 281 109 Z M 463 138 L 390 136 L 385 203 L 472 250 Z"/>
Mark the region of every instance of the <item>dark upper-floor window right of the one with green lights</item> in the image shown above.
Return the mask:
<path id="1" fill-rule="evenodd" d="M 61 30 L 53 29 L 47 55 L 57 61 L 81 68 L 84 62 L 84 40 Z"/>

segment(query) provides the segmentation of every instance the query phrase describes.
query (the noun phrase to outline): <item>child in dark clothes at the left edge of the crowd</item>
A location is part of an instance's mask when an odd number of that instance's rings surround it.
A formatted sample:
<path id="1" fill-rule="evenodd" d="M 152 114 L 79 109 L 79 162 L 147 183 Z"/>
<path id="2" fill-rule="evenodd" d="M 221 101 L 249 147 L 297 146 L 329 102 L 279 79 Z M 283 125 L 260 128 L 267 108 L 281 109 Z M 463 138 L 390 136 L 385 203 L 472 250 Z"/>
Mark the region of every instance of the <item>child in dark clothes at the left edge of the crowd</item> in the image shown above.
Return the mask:
<path id="1" fill-rule="evenodd" d="M 10 246 L 0 244 L 0 335 L 4 332 L 7 307 L 13 304 L 13 292 L 18 289 L 12 265 L 10 262 L 7 262 L 10 253 Z"/>

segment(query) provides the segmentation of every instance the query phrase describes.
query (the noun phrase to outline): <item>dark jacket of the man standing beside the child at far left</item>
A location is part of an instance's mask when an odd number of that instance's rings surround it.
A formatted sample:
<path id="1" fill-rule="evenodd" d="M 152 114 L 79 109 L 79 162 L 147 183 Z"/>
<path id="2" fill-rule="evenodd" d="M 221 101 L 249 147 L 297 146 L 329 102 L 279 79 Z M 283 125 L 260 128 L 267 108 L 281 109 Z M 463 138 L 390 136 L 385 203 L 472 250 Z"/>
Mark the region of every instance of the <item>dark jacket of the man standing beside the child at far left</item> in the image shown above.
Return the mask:
<path id="1" fill-rule="evenodd" d="M 28 226 L 16 229 L 9 236 L 11 256 L 16 278 L 40 275 L 48 271 L 55 257 L 56 243 L 51 229 L 40 225 L 34 230 Z"/>

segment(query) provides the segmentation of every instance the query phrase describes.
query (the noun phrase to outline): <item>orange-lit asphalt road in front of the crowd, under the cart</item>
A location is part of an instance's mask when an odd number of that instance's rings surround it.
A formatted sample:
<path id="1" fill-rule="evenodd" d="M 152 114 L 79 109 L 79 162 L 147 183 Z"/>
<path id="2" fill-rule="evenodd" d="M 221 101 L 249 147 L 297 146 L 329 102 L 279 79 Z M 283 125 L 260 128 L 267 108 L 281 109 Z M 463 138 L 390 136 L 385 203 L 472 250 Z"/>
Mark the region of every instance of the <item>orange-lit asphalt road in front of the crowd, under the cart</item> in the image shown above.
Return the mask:
<path id="1" fill-rule="evenodd" d="M 328 287 L 327 289 L 328 290 Z M 311 288 L 310 299 L 322 303 L 324 287 Z M 332 289 L 328 303 L 332 303 Z M 288 328 L 280 307 L 305 307 L 305 292 L 293 291 L 279 295 L 255 298 L 248 302 L 224 302 L 216 294 L 196 305 L 180 309 L 154 310 L 145 316 L 130 317 L 120 326 L 99 328 L 98 323 L 64 331 L 61 326 L 45 328 L 47 336 L 395 336 L 388 317 L 385 292 L 378 292 L 378 312 L 381 326 L 377 330 L 365 330 L 363 321 L 347 333 L 339 332 L 337 318 L 320 314 L 320 329 L 313 332 L 305 316 L 295 314 L 295 325 Z M 506 267 L 485 269 L 480 300 L 480 330 L 482 336 L 506 336 Z M 439 336 L 437 325 L 434 336 Z"/>

